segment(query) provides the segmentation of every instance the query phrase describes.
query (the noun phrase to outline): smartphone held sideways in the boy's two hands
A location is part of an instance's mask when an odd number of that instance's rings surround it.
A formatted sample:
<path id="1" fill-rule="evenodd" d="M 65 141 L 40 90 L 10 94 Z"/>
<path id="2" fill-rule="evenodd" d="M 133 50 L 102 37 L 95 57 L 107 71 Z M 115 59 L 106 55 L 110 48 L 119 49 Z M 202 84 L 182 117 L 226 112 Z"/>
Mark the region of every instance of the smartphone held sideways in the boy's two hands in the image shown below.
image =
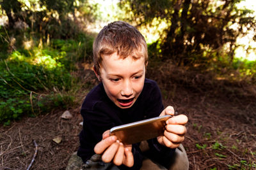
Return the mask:
<path id="1" fill-rule="evenodd" d="M 110 135 L 115 135 L 124 145 L 130 145 L 147 139 L 163 136 L 166 120 L 171 115 L 148 118 L 131 124 L 119 125 L 110 129 Z"/>

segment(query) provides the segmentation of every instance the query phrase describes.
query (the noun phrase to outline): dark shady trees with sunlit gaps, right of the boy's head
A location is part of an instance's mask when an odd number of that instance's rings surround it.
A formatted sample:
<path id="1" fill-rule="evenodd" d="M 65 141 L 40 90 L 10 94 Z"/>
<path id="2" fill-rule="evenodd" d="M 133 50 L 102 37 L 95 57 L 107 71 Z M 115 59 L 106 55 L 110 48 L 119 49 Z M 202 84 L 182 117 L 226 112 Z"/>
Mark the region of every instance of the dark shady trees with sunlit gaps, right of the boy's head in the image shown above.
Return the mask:
<path id="1" fill-rule="evenodd" d="M 217 74 L 238 69 L 242 77 L 250 76 L 248 81 L 255 82 L 255 62 L 241 63 L 234 57 L 236 49 L 243 46 L 237 43 L 238 38 L 250 31 L 253 39 L 256 37 L 253 11 L 238 8 L 241 1 L 125 0 L 120 7 L 127 11 L 127 20 L 141 29 L 163 29 L 160 24 L 157 28 L 155 22 L 165 23 L 164 32 L 148 48 L 150 57 L 171 59 L 178 66 Z M 252 46 L 245 49 L 255 50 Z"/>

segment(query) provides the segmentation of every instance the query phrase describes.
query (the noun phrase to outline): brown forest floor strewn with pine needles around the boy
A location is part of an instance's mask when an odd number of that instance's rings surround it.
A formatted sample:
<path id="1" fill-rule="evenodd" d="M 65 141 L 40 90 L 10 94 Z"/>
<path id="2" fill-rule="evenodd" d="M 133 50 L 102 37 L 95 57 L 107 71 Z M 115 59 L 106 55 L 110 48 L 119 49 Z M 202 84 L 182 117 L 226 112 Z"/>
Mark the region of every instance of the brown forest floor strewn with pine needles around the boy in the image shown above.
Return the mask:
<path id="1" fill-rule="evenodd" d="M 256 169 L 255 85 L 231 83 L 206 73 L 188 74 L 170 64 L 148 69 L 147 77 L 159 84 L 165 106 L 189 118 L 183 143 L 189 169 Z M 97 83 L 82 78 L 84 83 Z M 86 96 L 88 90 L 81 89 L 79 95 Z M 79 106 L 70 108 L 69 120 L 61 118 L 65 110 L 60 109 L 1 126 L 0 169 L 28 168 L 36 150 L 34 141 L 38 153 L 32 169 L 65 169 L 79 146 L 83 121 L 79 110 Z M 61 137 L 61 143 L 52 141 L 56 137 Z"/>

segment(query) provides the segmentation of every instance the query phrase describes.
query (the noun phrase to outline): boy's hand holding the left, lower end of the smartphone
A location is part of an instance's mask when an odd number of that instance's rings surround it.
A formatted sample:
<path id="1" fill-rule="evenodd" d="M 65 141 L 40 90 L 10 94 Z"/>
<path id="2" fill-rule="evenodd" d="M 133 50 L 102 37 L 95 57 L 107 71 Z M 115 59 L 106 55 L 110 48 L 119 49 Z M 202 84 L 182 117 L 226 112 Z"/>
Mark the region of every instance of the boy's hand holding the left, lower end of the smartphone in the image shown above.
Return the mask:
<path id="1" fill-rule="evenodd" d="M 134 164 L 132 145 L 124 146 L 116 139 L 116 136 L 109 136 L 109 130 L 102 134 L 102 141 L 95 145 L 94 152 L 102 154 L 103 162 L 113 161 L 116 166 L 124 164 L 132 167 Z"/>

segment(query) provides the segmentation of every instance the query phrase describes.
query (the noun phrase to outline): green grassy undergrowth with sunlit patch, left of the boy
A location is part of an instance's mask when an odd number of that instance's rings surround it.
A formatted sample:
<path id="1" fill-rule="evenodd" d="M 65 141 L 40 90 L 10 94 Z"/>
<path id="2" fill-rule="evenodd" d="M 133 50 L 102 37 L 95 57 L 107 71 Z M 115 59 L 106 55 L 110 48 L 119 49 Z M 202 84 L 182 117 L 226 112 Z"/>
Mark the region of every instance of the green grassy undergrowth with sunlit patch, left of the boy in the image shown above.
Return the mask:
<path id="1" fill-rule="evenodd" d="M 49 46 L 30 50 L 20 47 L 0 60 L 0 123 L 9 125 L 24 115 L 36 116 L 54 108 L 75 104 L 72 88 L 77 78 L 70 73 L 76 62 L 89 60 L 93 39 L 52 39 Z"/>

